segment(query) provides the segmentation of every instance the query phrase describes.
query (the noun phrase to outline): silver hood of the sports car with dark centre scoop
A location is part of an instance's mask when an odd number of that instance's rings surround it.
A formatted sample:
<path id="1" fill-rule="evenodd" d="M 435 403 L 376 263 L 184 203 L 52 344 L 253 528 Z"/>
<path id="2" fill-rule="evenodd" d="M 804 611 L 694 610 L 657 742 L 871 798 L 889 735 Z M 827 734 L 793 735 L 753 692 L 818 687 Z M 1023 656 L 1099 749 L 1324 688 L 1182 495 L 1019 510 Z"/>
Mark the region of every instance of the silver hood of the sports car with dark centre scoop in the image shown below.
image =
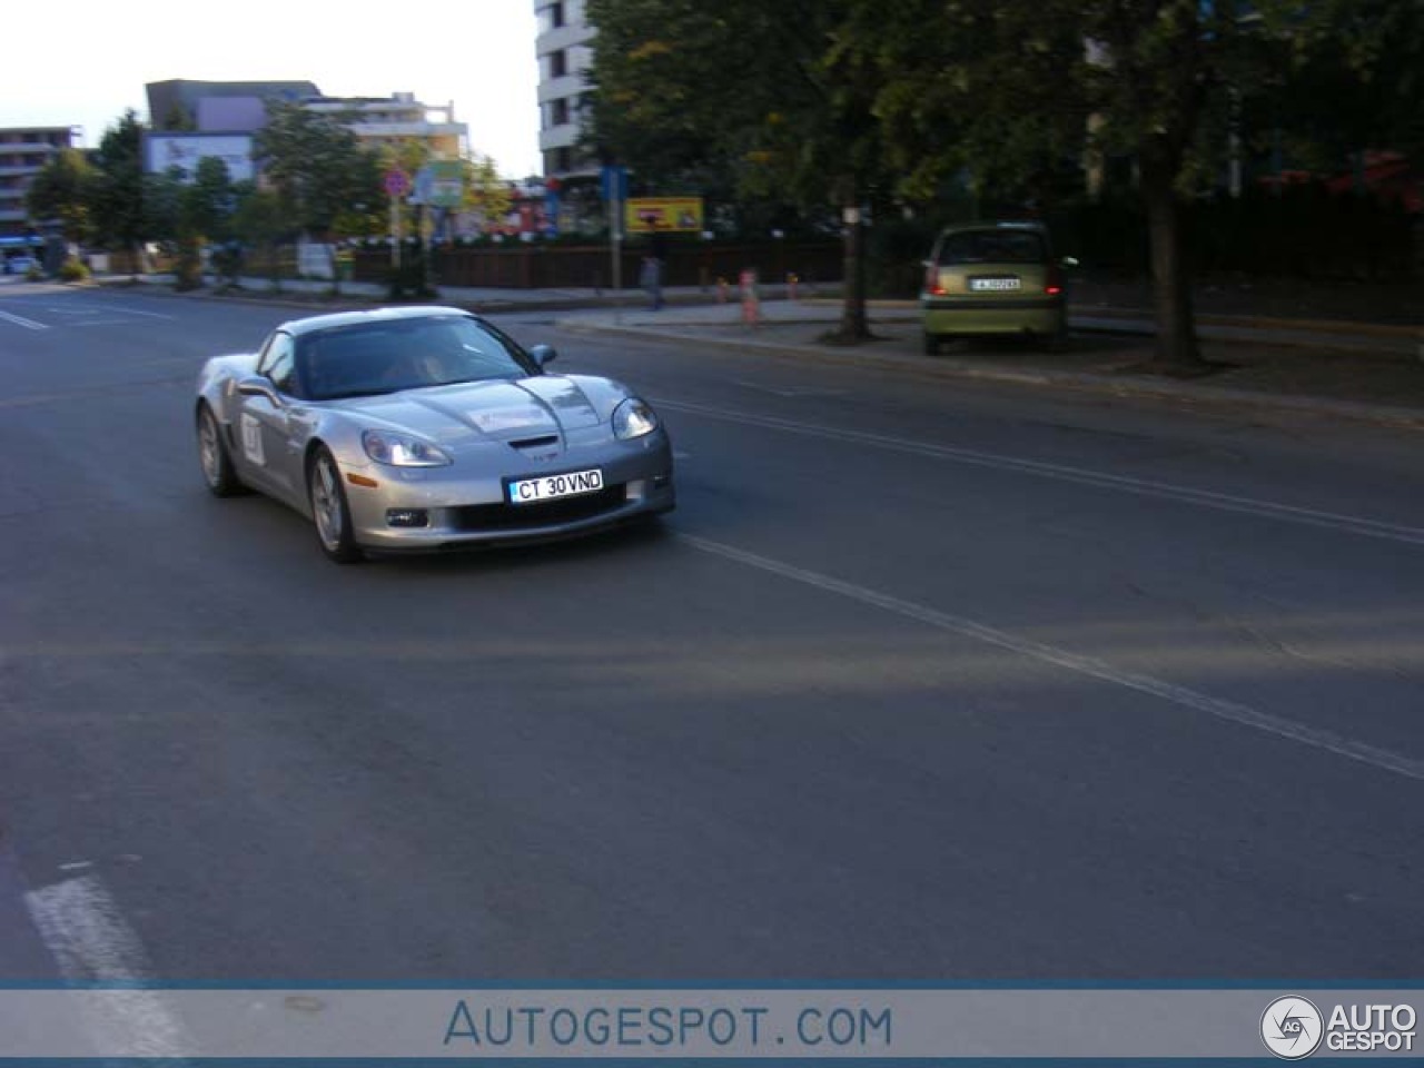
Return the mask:
<path id="1" fill-rule="evenodd" d="M 355 397 L 335 406 L 446 446 L 515 441 L 598 426 L 628 392 L 591 376 L 541 375 Z"/>

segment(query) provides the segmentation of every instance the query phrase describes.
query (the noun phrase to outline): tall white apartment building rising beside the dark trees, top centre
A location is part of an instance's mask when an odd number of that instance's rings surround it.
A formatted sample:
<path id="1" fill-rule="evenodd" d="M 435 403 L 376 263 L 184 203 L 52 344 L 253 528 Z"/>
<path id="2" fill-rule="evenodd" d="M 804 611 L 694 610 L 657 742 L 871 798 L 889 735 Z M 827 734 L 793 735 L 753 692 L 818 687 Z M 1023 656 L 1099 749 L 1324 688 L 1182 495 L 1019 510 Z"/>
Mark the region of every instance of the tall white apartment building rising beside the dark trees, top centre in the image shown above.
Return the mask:
<path id="1" fill-rule="evenodd" d="M 580 155 L 584 73 L 592 66 L 595 30 L 584 14 L 584 0 L 534 0 L 538 36 L 538 147 L 544 174 L 551 178 L 598 172 L 598 161 Z"/>

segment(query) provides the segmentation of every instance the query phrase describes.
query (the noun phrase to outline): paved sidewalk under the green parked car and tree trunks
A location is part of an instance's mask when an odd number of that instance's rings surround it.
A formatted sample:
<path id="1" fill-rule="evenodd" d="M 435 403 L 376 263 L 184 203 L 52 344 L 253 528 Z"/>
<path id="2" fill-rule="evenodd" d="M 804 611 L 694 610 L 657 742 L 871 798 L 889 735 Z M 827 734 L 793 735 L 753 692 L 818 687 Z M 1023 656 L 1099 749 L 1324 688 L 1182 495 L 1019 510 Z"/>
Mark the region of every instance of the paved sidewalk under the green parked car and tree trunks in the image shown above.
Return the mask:
<path id="1" fill-rule="evenodd" d="M 832 300 L 763 302 L 755 325 L 736 305 L 678 305 L 659 312 L 617 310 L 561 316 L 561 329 L 624 332 L 765 350 L 783 357 L 894 367 L 936 377 L 968 377 L 1059 389 L 1202 403 L 1270 406 L 1339 419 L 1424 429 L 1424 362 L 1413 329 L 1351 332 L 1277 320 L 1212 320 L 1198 335 L 1209 373 L 1168 379 L 1148 366 L 1151 320 L 1094 310 L 1069 315 L 1072 343 L 1045 352 L 1018 339 L 957 342 L 938 356 L 923 352 L 914 306 L 871 305 L 876 340 L 836 346 L 823 340 L 839 322 Z"/>

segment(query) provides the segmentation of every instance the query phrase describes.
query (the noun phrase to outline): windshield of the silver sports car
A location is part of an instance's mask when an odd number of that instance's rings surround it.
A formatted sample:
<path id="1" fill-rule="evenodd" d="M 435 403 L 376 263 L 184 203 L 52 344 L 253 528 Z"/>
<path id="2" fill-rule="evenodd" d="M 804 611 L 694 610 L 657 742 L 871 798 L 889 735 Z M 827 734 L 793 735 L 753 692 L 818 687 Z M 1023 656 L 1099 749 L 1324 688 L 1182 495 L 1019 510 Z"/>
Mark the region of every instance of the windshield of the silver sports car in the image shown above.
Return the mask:
<path id="1" fill-rule="evenodd" d="M 538 375 L 514 342 L 460 315 L 389 319 L 302 335 L 296 339 L 296 366 L 312 400 Z"/>

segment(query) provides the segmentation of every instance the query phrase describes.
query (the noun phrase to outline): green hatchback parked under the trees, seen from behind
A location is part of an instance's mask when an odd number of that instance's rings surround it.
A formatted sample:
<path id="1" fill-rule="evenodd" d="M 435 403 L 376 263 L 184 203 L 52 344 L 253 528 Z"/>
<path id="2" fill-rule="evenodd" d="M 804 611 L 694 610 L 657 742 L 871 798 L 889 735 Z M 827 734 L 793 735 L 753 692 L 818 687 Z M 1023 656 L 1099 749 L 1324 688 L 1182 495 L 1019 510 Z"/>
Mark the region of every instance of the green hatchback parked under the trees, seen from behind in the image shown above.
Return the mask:
<path id="1" fill-rule="evenodd" d="M 1020 335 L 1059 347 L 1068 340 L 1064 268 L 1038 222 L 950 226 L 924 262 L 924 350 L 951 337 Z"/>

